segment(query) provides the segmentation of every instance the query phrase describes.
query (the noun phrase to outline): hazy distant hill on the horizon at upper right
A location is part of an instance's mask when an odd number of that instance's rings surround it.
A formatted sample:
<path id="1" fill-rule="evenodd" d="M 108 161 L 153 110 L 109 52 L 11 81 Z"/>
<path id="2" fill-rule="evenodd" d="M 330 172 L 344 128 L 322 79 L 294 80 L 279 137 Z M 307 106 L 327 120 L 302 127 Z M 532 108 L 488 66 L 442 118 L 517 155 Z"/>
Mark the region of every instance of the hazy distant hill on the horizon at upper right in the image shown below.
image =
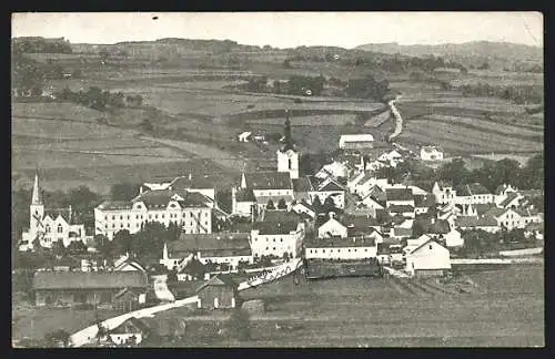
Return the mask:
<path id="1" fill-rule="evenodd" d="M 396 42 L 390 42 L 362 44 L 355 49 L 418 58 L 436 55 L 474 66 L 482 64 L 484 61 L 490 61 L 501 66 L 508 65 L 509 68 L 525 64 L 543 65 L 543 48 L 509 42 L 473 41 L 437 45 L 402 45 Z"/>

